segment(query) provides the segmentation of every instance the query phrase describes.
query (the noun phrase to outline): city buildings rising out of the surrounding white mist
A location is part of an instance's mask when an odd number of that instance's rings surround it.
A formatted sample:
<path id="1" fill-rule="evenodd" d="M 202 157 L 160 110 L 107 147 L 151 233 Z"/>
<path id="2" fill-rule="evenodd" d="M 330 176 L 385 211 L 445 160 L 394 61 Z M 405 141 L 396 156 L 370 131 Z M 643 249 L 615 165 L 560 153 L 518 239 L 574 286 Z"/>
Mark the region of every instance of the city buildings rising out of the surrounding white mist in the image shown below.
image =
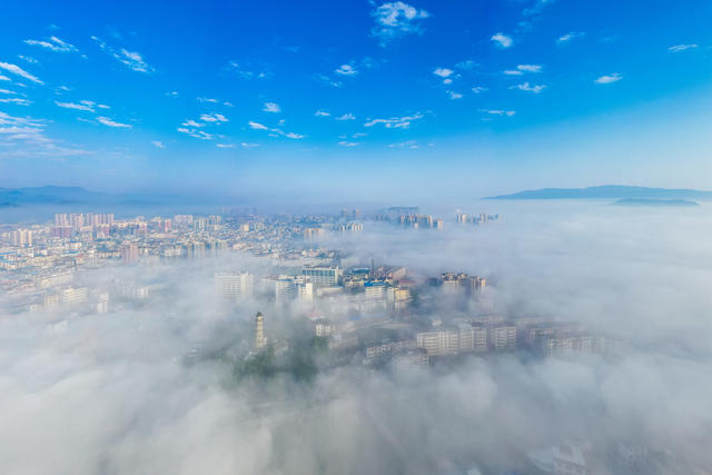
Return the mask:
<path id="1" fill-rule="evenodd" d="M 278 311 L 301 311 L 314 320 L 315 336 L 338 352 L 358 350 L 364 362 L 427 366 L 433 358 L 514 352 L 546 355 L 609 353 L 616 342 L 574 325 L 495 315 L 427 317 L 433 308 L 479 301 L 485 278 L 442 273 L 427 278 L 404 266 L 346 265 L 339 249 L 310 244 L 328 232 L 360 231 L 358 210 L 337 216 L 256 215 L 117 219 L 113 214 L 58 214 L 52 222 L 12 228 L 0 235 L 0 285 L 18 309 L 60 308 L 106 313 L 112 305 L 139 305 L 165 290 L 165 283 L 112 280 L 92 285 L 89 273 L 119 266 L 150 266 L 176 258 L 215 258 L 240 253 L 266 258 L 271 275 L 225 270 L 212 276 L 216 295 L 230 305 L 271 301 Z M 394 207 L 375 219 L 409 227 L 442 228 L 442 220 L 416 207 Z M 458 215 L 461 222 L 474 218 Z M 479 215 L 476 222 L 498 219 Z M 438 224 L 439 222 L 439 224 Z M 355 265 L 354 265 L 355 264 Z M 435 303 L 424 309 L 422 301 Z M 127 304 L 128 303 L 128 304 Z M 459 304 L 455 304 L 459 303 Z M 326 315 L 326 317 L 325 317 Z M 397 336 L 383 338 L 378 331 Z M 376 331 L 376 336 L 372 334 Z"/>

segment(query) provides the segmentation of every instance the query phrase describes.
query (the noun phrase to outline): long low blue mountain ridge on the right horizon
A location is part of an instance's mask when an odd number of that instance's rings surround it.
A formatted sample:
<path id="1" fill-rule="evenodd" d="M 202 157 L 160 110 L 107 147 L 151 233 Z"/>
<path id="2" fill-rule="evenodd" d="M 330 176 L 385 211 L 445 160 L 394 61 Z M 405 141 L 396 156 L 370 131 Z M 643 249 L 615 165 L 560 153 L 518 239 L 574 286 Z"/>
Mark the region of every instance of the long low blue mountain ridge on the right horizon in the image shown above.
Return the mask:
<path id="1" fill-rule="evenodd" d="M 699 199 L 712 200 L 712 191 L 604 185 L 589 188 L 543 188 L 484 199 Z"/>

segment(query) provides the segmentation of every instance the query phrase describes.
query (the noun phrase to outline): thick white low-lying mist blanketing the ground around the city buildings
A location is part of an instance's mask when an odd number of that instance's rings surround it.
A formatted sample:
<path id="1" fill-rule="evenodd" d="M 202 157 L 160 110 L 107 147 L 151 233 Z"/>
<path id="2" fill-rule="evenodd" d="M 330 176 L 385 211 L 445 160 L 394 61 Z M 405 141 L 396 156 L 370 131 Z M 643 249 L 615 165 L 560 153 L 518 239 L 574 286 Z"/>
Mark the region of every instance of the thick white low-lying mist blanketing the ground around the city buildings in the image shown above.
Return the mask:
<path id="1" fill-rule="evenodd" d="M 284 263 L 228 254 L 89 270 L 78 278 L 99 287 L 164 286 L 108 314 L 0 315 L 0 473 L 527 473 L 533 454 L 563 444 L 586 454 L 589 473 L 711 473 L 709 206 L 475 206 L 503 218 L 442 231 L 365 221 L 318 244 L 415 278 L 487 279 L 469 309 L 436 295 L 433 317 L 574 321 L 620 352 L 240 377 L 234 355 L 251 344 L 258 310 L 271 340 L 308 337 L 315 310 L 277 305 L 261 280 L 287 273 Z M 212 276 L 225 270 L 253 273 L 254 298 L 220 300 Z M 626 454 L 647 462 L 626 465 Z"/>

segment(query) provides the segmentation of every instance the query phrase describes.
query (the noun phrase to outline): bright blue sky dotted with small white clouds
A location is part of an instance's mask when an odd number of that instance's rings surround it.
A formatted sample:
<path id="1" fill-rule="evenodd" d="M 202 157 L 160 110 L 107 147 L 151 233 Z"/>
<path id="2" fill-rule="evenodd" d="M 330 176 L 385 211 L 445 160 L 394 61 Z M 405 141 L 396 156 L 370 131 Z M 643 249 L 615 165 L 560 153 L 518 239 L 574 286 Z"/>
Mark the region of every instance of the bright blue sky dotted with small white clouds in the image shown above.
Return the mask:
<path id="1" fill-rule="evenodd" d="M 4 2 L 0 186 L 712 188 L 712 3 Z"/>

